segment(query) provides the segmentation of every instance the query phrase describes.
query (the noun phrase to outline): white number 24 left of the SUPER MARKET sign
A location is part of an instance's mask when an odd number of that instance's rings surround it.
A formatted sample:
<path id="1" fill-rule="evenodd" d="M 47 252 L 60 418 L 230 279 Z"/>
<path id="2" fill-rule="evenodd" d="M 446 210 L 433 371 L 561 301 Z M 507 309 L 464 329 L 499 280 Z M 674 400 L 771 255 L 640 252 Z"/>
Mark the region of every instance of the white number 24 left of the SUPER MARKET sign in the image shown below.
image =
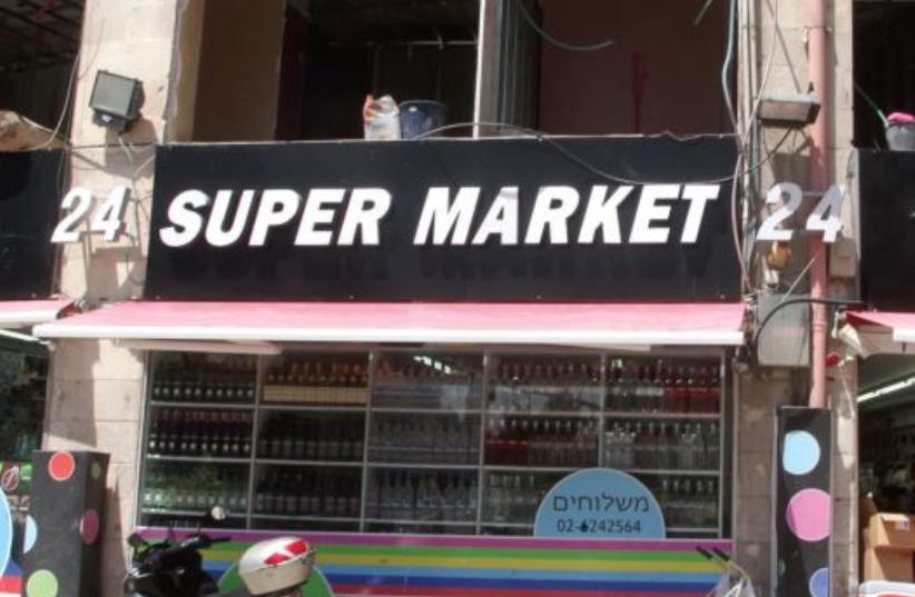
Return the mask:
<path id="1" fill-rule="evenodd" d="M 108 199 L 99 207 L 92 221 L 89 222 L 89 232 L 105 235 L 105 240 L 111 242 L 117 240 L 124 231 L 124 212 L 130 198 L 130 189 L 127 187 L 115 187 Z M 69 210 L 69 213 L 61 218 L 51 235 L 51 242 L 79 242 L 87 230 L 81 229 L 80 222 L 88 218 L 92 210 L 95 198 L 89 189 L 77 187 L 70 189 L 60 208 Z"/>

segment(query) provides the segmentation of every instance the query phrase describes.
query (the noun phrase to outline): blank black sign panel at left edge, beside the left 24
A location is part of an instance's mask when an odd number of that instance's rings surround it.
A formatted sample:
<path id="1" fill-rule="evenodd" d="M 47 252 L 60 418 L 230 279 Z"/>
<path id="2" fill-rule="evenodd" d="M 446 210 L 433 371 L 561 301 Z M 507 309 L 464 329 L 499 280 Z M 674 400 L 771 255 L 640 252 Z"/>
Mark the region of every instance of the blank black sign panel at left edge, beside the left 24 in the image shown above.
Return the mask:
<path id="1" fill-rule="evenodd" d="M 0 152 L 0 299 L 51 292 L 63 151 Z"/>

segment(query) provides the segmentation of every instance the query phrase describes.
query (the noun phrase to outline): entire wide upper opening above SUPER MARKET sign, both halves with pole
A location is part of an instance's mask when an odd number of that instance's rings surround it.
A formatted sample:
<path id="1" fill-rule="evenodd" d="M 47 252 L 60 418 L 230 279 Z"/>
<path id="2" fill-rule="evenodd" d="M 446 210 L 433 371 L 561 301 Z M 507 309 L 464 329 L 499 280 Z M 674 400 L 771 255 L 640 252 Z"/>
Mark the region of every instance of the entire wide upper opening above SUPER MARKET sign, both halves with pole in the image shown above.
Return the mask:
<path id="1" fill-rule="evenodd" d="M 367 94 L 441 102 L 449 125 L 727 133 L 720 77 L 728 8 L 682 0 L 191 1 L 181 16 L 171 138 L 360 139 Z"/>

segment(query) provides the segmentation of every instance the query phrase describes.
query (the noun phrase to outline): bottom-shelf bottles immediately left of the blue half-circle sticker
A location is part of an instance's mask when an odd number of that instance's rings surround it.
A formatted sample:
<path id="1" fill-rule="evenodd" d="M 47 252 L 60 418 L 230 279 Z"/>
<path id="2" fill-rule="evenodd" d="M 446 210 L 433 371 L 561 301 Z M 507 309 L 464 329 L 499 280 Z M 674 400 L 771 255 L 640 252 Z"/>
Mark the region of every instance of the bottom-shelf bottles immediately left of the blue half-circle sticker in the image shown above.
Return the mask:
<path id="1" fill-rule="evenodd" d="M 558 480 L 523 472 L 491 472 L 486 478 L 483 520 L 488 523 L 531 524 L 540 501 Z"/>

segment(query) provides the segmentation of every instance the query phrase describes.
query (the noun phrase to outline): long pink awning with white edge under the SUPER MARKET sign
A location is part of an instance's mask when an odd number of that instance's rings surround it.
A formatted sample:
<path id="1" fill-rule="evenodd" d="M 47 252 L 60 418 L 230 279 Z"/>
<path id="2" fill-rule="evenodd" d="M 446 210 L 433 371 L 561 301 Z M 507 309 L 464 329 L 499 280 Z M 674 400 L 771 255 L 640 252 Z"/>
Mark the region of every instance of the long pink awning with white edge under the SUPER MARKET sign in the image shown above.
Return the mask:
<path id="1" fill-rule="evenodd" d="M 738 346 L 741 304 L 130 301 L 36 327 L 122 340 Z"/>

